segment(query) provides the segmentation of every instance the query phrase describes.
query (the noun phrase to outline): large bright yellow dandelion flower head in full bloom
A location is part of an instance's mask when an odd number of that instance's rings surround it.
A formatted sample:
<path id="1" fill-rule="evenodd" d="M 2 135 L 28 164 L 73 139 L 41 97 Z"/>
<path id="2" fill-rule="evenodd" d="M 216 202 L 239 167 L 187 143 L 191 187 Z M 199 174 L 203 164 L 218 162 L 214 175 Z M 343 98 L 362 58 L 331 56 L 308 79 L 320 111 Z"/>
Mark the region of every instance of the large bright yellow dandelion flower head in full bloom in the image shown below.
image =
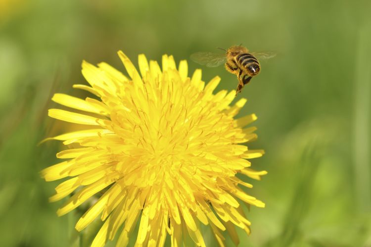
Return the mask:
<path id="1" fill-rule="evenodd" d="M 236 175 L 259 180 L 267 173 L 250 169 L 246 160 L 264 151 L 241 145 L 257 138 L 255 127 L 244 128 L 256 119 L 254 114 L 234 119 L 246 99 L 230 106 L 235 92 L 214 95 L 220 78 L 205 86 L 199 69 L 189 78 L 185 60 L 177 69 L 173 56 L 163 55 L 161 70 L 141 54 L 140 76 L 129 58 L 118 54 L 130 79 L 106 63 L 95 67 L 84 61 L 82 73 L 91 87 L 73 86 L 101 100 L 64 94 L 52 98 L 87 112 L 49 109 L 52 118 L 86 126 L 50 138 L 75 147 L 57 153 L 66 161 L 41 172 L 46 181 L 71 177 L 50 198 L 56 201 L 75 191 L 57 214 L 107 189 L 76 224 L 81 231 L 100 215 L 104 224 L 94 247 L 104 246 L 119 229 L 117 246 L 127 246 L 138 221 L 138 246 L 163 246 L 167 234 L 174 247 L 189 237 L 205 246 L 200 223 L 211 227 L 221 246 L 225 230 L 238 244 L 234 226 L 250 233 L 242 204 L 264 203 L 247 195 L 239 185 L 252 185 Z"/>

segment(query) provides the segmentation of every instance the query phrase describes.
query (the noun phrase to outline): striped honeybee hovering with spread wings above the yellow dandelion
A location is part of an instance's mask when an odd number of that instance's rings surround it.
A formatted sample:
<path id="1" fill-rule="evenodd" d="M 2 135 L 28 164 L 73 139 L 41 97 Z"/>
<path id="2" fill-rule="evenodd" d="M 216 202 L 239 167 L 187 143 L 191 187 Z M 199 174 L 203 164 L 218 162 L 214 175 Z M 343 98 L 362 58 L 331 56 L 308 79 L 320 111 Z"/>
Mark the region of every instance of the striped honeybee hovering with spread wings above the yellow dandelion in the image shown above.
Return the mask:
<path id="1" fill-rule="evenodd" d="M 238 86 L 236 89 L 236 96 L 254 76 L 259 74 L 261 66 L 257 57 L 259 59 L 268 59 L 275 56 L 272 52 L 251 53 L 247 48 L 241 45 L 232 46 L 227 50 L 223 50 L 226 51 L 225 54 L 196 52 L 193 53 L 190 58 L 196 63 L 206 65 L 207 67 L 217 67 L 224 63 L 226 70 L 237 76 Z"/>

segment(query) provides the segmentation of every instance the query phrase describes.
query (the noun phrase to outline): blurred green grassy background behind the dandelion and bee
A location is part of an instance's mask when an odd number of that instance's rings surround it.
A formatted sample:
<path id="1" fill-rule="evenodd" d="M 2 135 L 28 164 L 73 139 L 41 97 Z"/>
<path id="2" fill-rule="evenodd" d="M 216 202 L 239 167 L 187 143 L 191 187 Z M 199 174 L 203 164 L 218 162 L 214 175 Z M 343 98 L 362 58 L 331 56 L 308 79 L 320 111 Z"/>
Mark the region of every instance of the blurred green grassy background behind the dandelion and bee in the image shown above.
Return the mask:
<path id="1" fill-rule="evenodd" d="M 240 43 L 278 54 L 237 97 L 248 99 L 240 114 L 259 117 L 250 147 L 266 155 L 253 168 L 269 171 L 253 182 L 266 208 L 251 208 L 240 246 L 371 246 L 370 10 L 368 0 L 0 0 L 0 246 L 89 243 L 73 229 L 81 212 L 58 218 L 60 202 L 47 201 L 57 182 L 38 175 L 61 148 L 38 142 L 65 128 L 47 117 L 50 98 L 79 96 L 82 59 L 124 71 L 119 49 L 179 61 Z M 235 89 L 223 67 L 189 61 L 199 67 Z"/>

